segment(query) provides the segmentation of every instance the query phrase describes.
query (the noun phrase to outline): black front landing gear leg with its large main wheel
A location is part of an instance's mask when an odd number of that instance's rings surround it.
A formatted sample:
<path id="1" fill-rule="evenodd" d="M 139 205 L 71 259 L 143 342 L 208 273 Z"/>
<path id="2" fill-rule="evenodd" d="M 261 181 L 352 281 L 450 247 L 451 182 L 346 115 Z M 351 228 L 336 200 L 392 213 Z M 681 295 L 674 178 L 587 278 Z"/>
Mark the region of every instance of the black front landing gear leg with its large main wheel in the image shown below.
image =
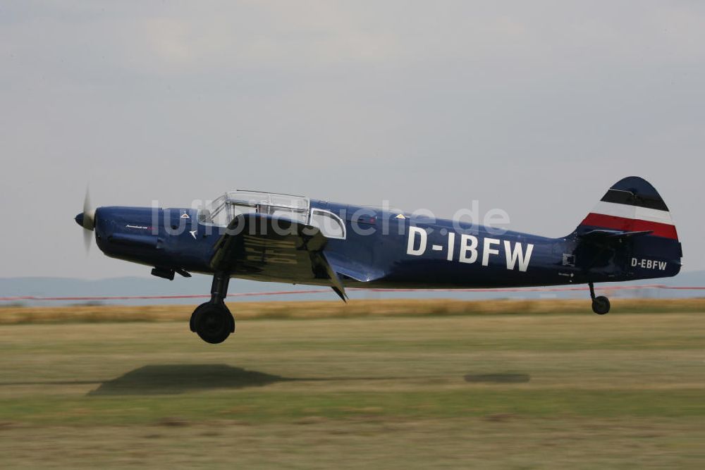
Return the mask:
<path id="1" fill-rule="evenodd" d="M 229 282 L 228 273 L 215 273 L 210 302 L 200 304 L 191 314 L 191 331 L 212 345 L 225 341 L 230 333 L 235 332 L 235 319 L 223 302 L 228 294 Z"/>

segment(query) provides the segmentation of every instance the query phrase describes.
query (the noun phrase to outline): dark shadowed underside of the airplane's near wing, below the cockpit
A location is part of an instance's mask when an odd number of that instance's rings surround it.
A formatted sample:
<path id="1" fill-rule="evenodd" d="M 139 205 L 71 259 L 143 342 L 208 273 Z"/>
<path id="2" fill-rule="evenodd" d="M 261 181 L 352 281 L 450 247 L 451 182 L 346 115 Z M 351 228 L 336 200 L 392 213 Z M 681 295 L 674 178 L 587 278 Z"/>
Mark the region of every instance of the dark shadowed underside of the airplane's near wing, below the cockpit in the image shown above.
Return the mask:
<path id="1" fill-rule="evenodd" d="M 345 301 L 347 295 L 323 249 L 318 228 L 268 214 L 233 218 L 214 246 L 215 271 L 278 282 L 324 283 Z"/>

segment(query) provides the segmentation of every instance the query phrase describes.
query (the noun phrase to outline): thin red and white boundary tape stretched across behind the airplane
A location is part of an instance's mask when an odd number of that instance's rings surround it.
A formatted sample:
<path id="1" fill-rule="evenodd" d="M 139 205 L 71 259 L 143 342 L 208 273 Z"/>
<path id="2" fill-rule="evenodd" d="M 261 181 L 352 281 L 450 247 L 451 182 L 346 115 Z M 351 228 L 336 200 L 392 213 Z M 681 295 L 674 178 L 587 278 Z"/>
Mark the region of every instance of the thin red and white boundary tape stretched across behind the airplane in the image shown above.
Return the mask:
<path id="1" fill-rule="evenodd" d="M 615 285 L 615 286 L 599 286 L 598 290 L 642 290 L 642 289 L 659 289 L 659 290 L 705 290 L 703 286 L 687 286 L 675 287 L 663 284 L 648 284 L 648 285 Z M 507 287 L 497 289 L 364 289 L 360 287 L 351 287 L 347 289 L 349 292 L 566 292 L 575 290 L 589 290 L 587 286 L 576 287 Z M 296 294 L 320 294 L 331 292 L 330 289 L 311 289 L 311 290 L 276 290 L 271 292 L 235 292 L 228 294 L 228 297 L 260 297 L 263 295 L 296 295 Z M 61 301 L 99 301 L 99 300 L 159 300 L 159 299 L 208 299 L 210 295 L 110 295 L 98 296 L 92 295 L 87 297 L 41 297 L 36 295 L 17 295 L 10 297 L 0 297 L 0 302 L 18 302 L 20 300 L 41 300 L 47 302 Z"/>

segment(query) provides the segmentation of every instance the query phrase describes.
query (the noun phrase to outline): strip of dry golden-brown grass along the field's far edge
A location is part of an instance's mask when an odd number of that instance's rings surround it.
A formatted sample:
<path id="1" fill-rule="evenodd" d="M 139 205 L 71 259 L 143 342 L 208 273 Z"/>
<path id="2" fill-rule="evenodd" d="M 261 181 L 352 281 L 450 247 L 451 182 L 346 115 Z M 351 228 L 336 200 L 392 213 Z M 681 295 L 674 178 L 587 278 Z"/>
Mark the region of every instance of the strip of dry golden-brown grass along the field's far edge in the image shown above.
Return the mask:
<path id="1" fill-rule="evenodd" d="M 486 314 L 584 314 L 588 299 L 451 300 L 376 299 L 310 302 L 229 302 L 237 319 L 323 319 L 358 316 L 423 316 Z M 614 299 L 614 312 L 654 313 L 705 311 L 705 298 Z M 0 324 L 87 323 L 116 321 L 188 321 L 193 305 L 81 305 L 70 307 L 5 307 Z"/>

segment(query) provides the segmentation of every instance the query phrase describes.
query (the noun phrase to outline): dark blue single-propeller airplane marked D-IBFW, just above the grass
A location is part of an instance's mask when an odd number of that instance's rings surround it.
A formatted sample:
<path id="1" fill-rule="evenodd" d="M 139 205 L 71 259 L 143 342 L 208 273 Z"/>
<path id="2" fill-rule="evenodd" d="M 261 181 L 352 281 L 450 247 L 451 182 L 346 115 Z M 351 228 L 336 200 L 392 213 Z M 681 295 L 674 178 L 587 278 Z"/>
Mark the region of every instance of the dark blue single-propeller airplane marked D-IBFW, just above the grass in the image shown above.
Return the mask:
<path id="1" fill-rule="evenodd" d="M 231 191 L 197 209 L 105 206 L 88 197 L 75 217 L 107 256 L 152 274 L 213 276 L 211 299 L 190 329 L 206 342 L 235 332 L 224 299 L 231 278 L 345 287 L 488 288 L 589 285 L 592 310 L 608 313 L 594 283 L 675 276 L 682 247 L 666 203 L 646 180 L 615 183 L 565 237 L 337 204 Z M 87 245 L 88 246 L 88 245 Z"/>

